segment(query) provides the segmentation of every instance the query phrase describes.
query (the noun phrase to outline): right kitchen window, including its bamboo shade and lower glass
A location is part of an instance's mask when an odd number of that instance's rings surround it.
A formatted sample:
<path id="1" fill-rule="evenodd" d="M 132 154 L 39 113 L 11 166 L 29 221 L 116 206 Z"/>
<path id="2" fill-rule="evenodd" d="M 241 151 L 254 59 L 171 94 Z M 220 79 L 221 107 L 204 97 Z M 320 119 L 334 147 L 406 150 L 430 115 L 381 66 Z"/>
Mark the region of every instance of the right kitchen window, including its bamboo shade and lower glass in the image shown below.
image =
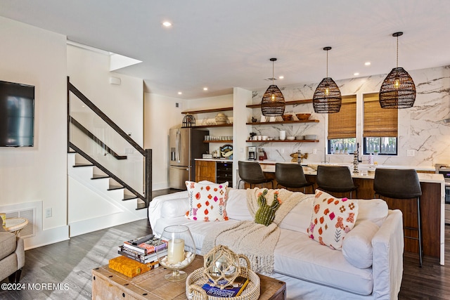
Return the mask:
<path id="1" fill-rule="evenodd" d="M 364 154 L 397 155 L 398 110 L 381 108 L 378 93 L 365 94 L 363 99 Z"/>

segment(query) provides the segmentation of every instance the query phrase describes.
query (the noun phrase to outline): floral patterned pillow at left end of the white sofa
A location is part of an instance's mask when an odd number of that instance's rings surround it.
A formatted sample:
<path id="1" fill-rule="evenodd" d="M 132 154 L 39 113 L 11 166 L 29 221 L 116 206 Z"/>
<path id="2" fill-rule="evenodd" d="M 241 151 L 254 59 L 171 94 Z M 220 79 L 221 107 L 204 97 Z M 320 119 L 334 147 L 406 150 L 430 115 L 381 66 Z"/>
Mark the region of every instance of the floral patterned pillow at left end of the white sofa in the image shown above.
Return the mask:
<path id="1" fill-rule="evenodd" d="M 189 210 L 186 217 L 194 221 L 227 221 L 226 188 L 228 182 L 196 183 L 186 181 L 188 188 Z"/>

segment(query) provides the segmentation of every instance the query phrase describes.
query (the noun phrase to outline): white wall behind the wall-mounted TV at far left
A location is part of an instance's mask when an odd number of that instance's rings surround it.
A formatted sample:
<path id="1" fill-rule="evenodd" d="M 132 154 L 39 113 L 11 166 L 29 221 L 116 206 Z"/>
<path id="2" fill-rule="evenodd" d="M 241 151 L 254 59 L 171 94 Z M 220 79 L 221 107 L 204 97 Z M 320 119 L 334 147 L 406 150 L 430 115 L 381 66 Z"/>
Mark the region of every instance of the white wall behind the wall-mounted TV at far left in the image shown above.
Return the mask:
<path id="1" fill-rule="evenodd" d="M 37 216 L 44 232 L 25 240 L 25 247 L 56 242 L 68 238 L 66 39 L 1 17 L 0 36 L 0 80 L 35 86 L 34 147 L 0 148 L 0 209 L 41 201 L 53 216 Z"/>

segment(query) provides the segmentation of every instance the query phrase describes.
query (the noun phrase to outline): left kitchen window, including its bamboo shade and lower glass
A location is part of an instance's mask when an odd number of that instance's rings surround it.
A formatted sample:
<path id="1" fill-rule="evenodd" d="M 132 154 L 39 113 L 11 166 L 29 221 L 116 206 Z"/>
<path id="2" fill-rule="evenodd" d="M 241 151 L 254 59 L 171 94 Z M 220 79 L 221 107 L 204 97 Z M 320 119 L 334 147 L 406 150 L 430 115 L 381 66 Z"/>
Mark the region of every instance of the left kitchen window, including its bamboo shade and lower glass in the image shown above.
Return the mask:
<path id="1" fill-rule="evenodd" d="M 328 154 L 356 148 L 356 95 L 342 96 L 340 111 L 328 115 Z"/>

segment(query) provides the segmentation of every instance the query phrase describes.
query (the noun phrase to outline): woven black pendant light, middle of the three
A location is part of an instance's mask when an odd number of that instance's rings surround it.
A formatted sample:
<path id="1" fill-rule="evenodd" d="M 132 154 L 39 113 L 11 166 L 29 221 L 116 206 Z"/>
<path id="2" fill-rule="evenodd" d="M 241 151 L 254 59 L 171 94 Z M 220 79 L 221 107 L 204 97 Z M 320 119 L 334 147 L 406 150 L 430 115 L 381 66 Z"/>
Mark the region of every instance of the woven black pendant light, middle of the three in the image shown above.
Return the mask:
<path id="1" fill-rule="evenodd" d="M 331 50 L 331 47 L 325 47 L 323 50 L 326 51 L 326 78 L 322 79 L 314 91 L 312 106 L 314 112 L 330 114 L 340 111 L 342 96 L 338 85 L 331 77 L 328 77 L 328 50 Z"/>

